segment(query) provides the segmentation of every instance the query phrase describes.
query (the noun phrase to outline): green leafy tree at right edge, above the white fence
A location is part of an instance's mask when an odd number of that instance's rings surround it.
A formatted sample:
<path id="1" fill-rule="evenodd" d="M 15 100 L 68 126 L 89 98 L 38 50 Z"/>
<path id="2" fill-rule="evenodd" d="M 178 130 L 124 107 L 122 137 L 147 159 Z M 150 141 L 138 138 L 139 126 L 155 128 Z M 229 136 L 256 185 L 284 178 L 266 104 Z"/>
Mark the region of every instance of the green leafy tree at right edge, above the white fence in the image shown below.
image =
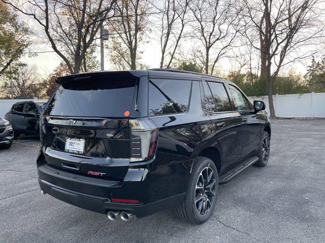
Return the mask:
<path id="1" fill-rule="evenodd" d="M 318 62 L 313 57 L 304 77 L 310 91 L 325 92 L 325 56 Z"/>

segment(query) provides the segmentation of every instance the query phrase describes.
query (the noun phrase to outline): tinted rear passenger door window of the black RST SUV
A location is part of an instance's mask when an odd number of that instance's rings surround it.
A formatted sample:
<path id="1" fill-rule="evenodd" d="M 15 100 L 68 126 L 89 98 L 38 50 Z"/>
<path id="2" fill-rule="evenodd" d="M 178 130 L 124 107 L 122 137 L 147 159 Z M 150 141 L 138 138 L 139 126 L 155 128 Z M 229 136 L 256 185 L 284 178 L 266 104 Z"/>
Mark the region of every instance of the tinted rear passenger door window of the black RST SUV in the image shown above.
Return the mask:
<path id="1" fill-rule="evenodd" d="M 232 106 L 230 105 L 230 100 L 223 84 L 215 82 L 208 82 L 208 84 L 210 86 L 215 105 L 217 106 L 217 112 L 232 111 Z"/>

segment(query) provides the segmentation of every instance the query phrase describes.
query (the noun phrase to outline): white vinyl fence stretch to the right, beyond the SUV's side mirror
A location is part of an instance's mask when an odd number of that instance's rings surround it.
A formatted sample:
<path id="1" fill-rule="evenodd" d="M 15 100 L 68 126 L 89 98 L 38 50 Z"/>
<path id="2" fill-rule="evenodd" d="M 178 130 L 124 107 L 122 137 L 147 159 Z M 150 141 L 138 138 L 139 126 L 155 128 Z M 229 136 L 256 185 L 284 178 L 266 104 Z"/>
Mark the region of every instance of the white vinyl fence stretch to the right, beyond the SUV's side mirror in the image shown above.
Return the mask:
<path id="1" fill-rule="evenodd" d="M 252 103 L 254 100 L 263 100 L 266 104 L 266 111 L 270 114 L 267 96 L 248 98 Z M 278 117 L 325 118 L 325 93 L 274 95 L 273 105 L 275 115 Z"/>

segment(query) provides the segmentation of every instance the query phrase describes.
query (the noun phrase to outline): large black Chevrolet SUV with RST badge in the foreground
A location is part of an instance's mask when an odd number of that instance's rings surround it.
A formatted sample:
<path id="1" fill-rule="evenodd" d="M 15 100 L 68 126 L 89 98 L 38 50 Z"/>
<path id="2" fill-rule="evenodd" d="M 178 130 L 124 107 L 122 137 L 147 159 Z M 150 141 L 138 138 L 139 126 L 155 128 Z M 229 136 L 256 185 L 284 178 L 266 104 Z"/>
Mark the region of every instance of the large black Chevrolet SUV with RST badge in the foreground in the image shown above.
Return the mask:
<path id="1" fill-rule="evenodd" d="M 176 207 L 203 223 L 219 183 L 268 162 L 264 102 L 221 78 L 150 69 L 56 82 L 41 116 L 41 191 L 111 220 Z"/>

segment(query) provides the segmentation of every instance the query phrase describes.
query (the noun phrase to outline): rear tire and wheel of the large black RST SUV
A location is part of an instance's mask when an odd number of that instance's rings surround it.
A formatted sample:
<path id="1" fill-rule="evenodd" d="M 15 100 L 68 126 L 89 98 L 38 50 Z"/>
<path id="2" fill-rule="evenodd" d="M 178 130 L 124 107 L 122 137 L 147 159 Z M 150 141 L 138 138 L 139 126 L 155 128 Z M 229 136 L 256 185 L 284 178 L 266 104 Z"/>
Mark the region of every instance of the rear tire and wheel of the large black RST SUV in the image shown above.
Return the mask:
<path id="1" fill-rule="evenodd" d="M 197 157 L 189 176 L 185 199 L 176 207 L 180 219 L 202 224 L 213 214 L 218 194 L 218 171 L 213 161 Z"/>

